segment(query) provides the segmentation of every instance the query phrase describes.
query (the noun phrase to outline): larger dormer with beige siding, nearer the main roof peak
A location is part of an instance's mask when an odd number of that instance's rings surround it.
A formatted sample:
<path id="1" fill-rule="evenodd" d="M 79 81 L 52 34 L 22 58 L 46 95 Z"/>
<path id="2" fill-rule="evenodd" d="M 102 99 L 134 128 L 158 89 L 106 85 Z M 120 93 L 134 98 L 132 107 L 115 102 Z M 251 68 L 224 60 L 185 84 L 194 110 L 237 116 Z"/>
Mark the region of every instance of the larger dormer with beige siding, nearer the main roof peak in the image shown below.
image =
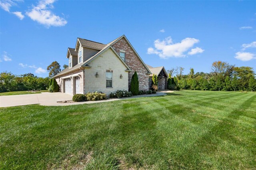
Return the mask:
<path id="1" fill-rule="evenodd" d="M 78 64 L 88 60 L 90 57 L 94 56 L 96 53 L 102 50 L 105 46 L 106 44 L 103 43 L 77 38 L 75 51 L 78 56 Z"/>

